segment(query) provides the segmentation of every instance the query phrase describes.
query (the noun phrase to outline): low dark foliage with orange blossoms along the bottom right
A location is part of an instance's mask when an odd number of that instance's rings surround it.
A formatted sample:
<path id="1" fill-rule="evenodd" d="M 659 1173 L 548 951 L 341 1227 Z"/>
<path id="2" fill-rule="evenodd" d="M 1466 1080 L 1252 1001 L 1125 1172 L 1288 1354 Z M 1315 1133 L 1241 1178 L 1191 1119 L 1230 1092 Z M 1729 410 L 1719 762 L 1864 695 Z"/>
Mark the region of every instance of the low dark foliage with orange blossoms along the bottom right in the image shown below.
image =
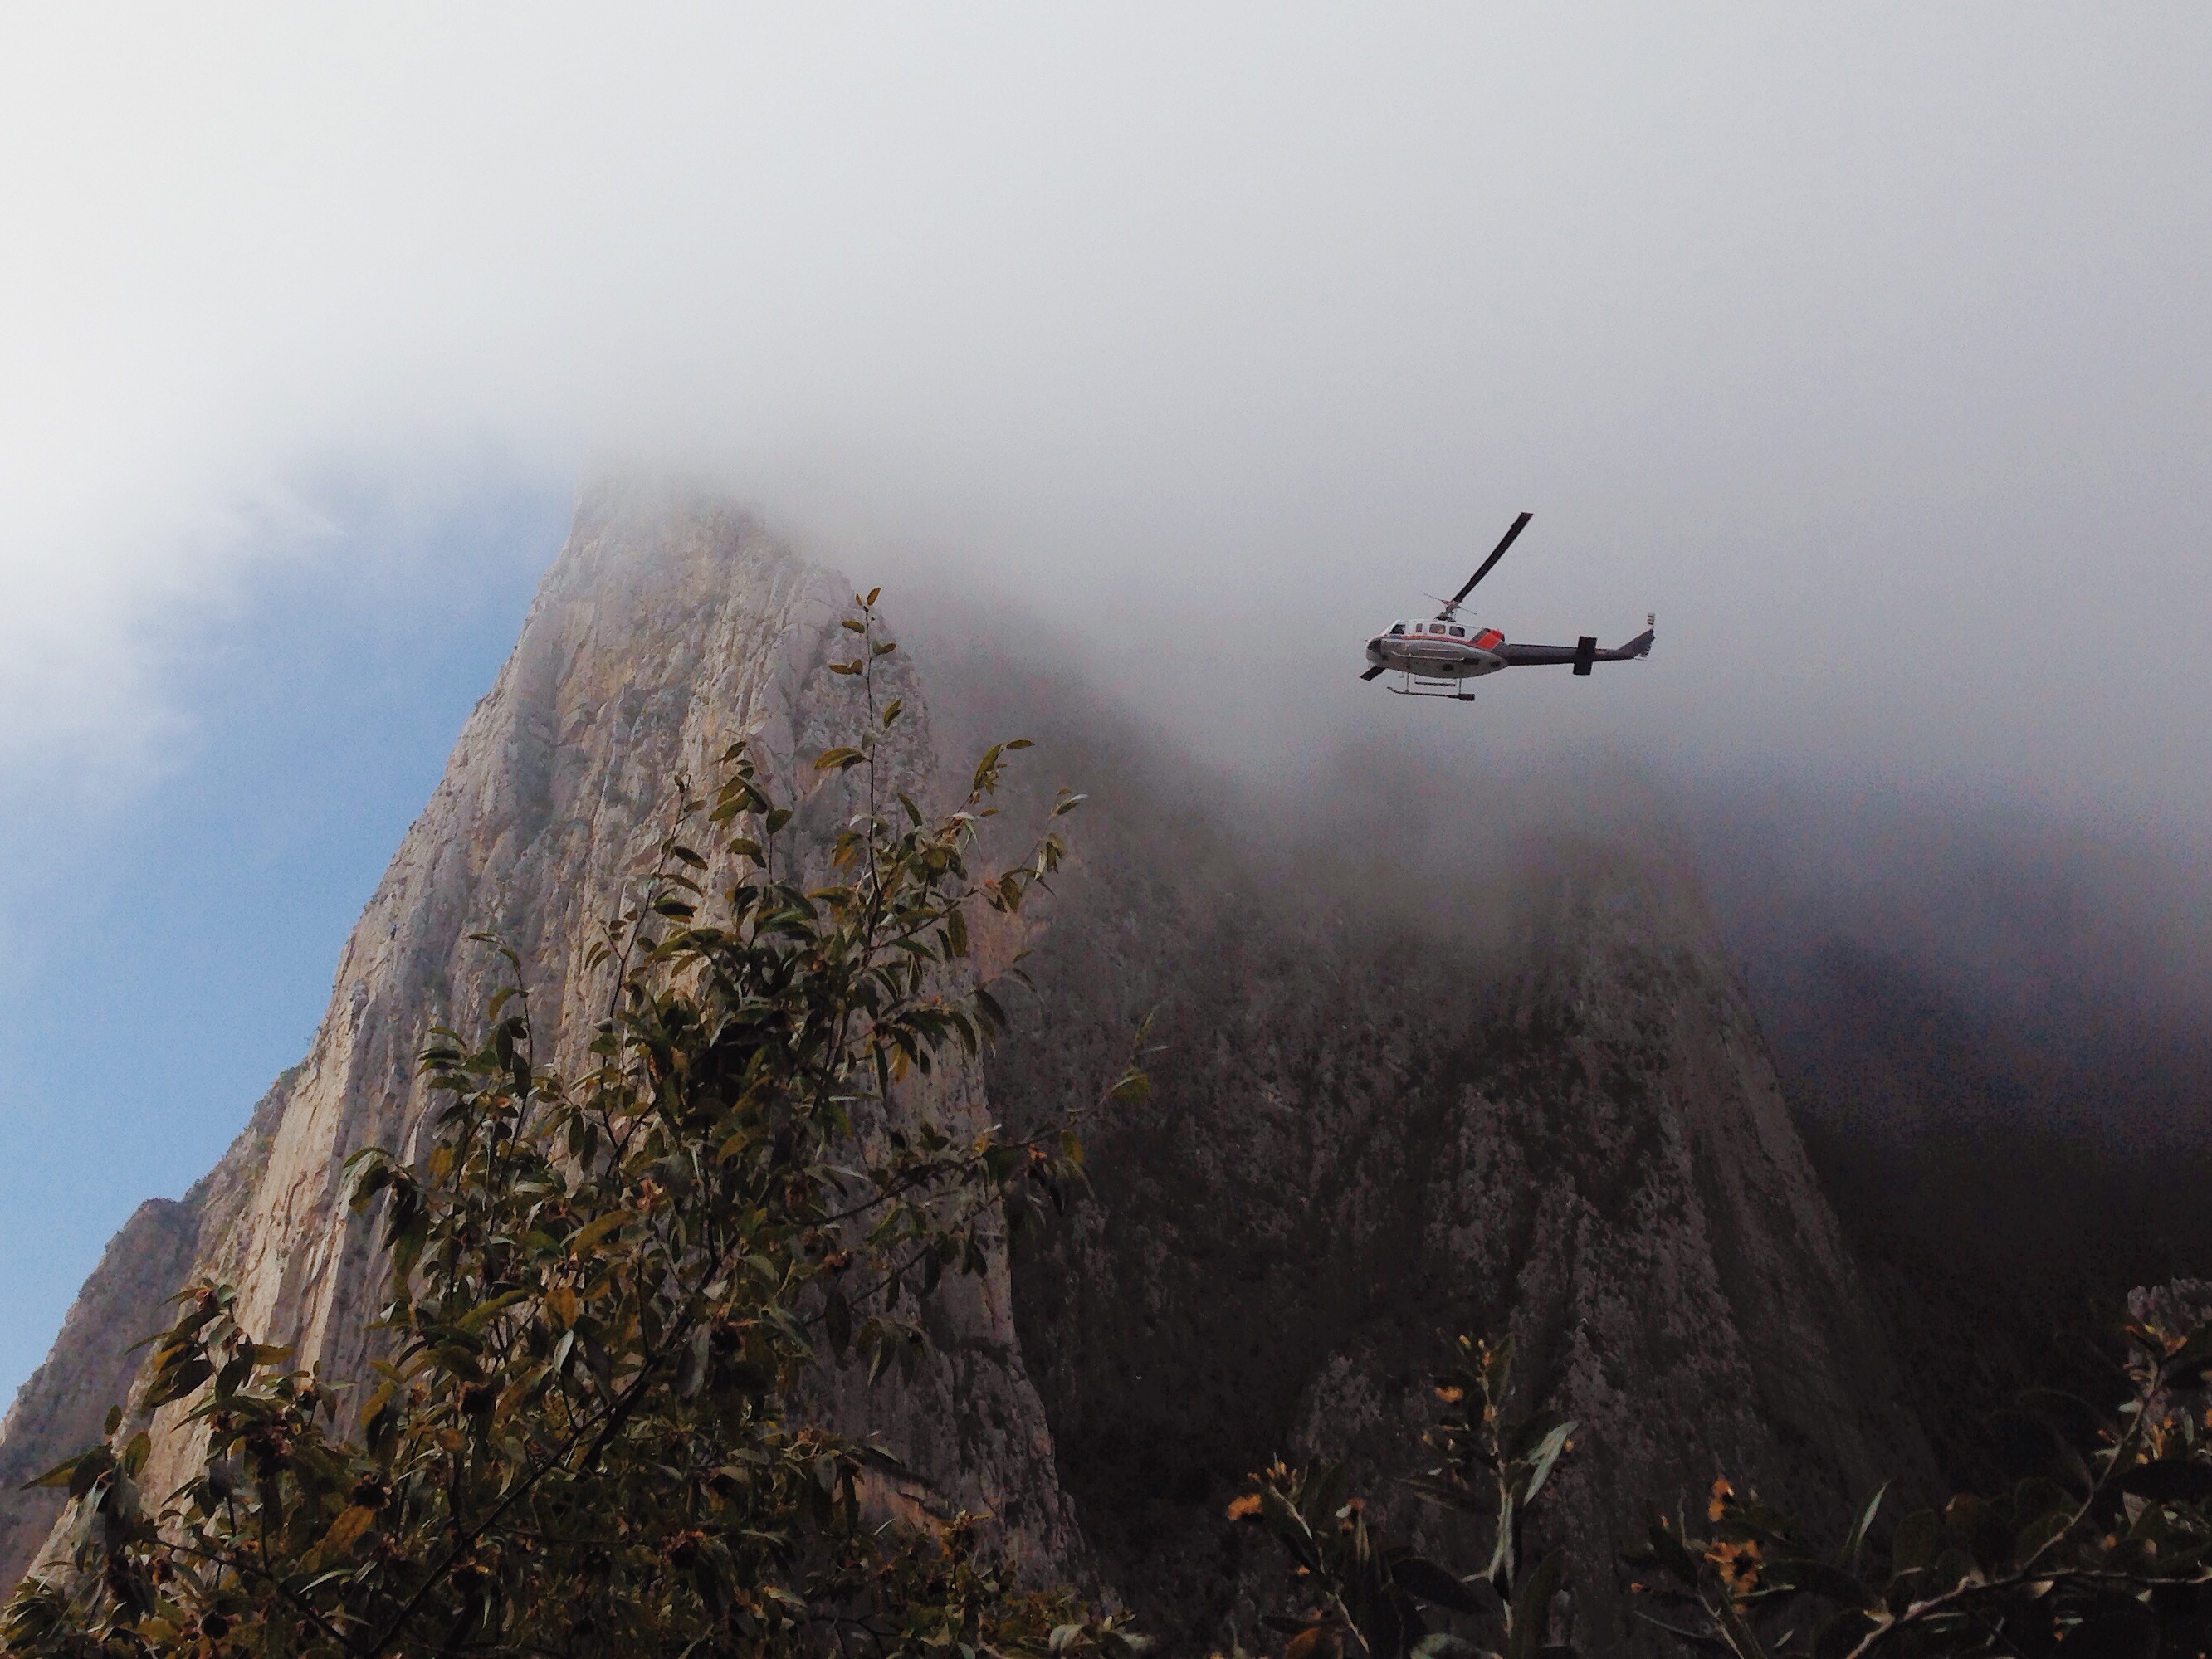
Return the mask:
<path id="1" fill-rule="evenodd" d="M 2126 1327 L 2130 1398 L 2117 1413 L 2051 1389 L 2022 1398 L 2024 1478 L 1962 1493 L 1882 1528 L 1876 1491 L 1834 1551 L 1719 1478 L 1697 1535 L 1650 1515 L 1624 1555 L 1641 1617 L 1666 1639 L 1732 1659 L 2157 1659 L 2212 1650 L 2212 1323 Z M 1464 1579 L 1380 1537 L 1340 1467 L 1256 1475 L 1230 1506 L 1287 1551 L 1314 1606 L 1267 1619 L 1296 1659 L 1354 1646 L 1369 1659 L 1566 1655 L 1548 1646 L 1562 1579 L 1553 1551 L 1522 1573 L 1520 1524 L 1573 1425 L 1504 1413 L 1509 1345 L 1460 1338 L 1429 1433 L 1442 1462 L 1413 1491 L 1493 1535 Z M 1471 1409 L 1460 1409 L 1467 1400 Z M 1478 1407 L 1478 1409 L 1473 1409 Z M 1478 1639 L 1436 1628 L 1471 1615 Z M 1493 1635 L 1486 1646 L 1480 1637 Z M 1303 1644 L 1303 1646 L 1301 1646 Z"/>

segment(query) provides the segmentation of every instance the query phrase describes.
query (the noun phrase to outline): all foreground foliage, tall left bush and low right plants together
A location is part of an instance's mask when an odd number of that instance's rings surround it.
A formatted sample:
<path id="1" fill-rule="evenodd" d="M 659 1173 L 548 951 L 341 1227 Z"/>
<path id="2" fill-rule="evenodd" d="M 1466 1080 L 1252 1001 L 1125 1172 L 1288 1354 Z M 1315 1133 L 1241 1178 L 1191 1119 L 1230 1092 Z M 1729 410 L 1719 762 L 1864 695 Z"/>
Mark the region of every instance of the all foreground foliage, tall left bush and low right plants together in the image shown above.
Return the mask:
<path id="1" fill-rule="evenodd" d="M 296 1369 L 226 1285 L 192 1285 L 137 1416 L 44 1478 L 73 1504 L 66 1559 L 0 1613 L 4 1652 L 1141 1646 L 1126 1617 L 1020 1582 L 987 1517 L 938 1511 L 885 1447 L 827 1427 L 841 1378 L 900 1387 L 931 1298 L 1084 1186 L 1071 1119 L 956 1137 L 931 1108 L 940 1062 L 1002 1024 L 969 982 L 971 916 L 1018 911 L 1064 845 L 1046 830 L 1022 863 L 973 867 L 1018 743 L 982 757 L 951 814 L 878 799 L 902 708 L 876 701 L 894 646 L 872 604 L 832 664 L 867 728 L 814 757 L 854 792 L 832 845 L 790 845 L 792 810 L 743 745 L 712 796 L 681 790 L 593 956 L 611 993 L 582 1075 L 538 1064 L 518 982 L 478 1033 L 425 1051 L 440 1110 L 422 1144 L 354 1161 L 389 1263 L 374 1378 Z M 1108 1093 L 1144 1086 L 1130 1068 Z M 1650 1628 L 1736 1659 L 2203 1652 L 2212 1327 L 2146 1305 L 2130 1340 L 2128 1405 L 2033 1396 L 2004 1438 L 2028 1467 L 1995 1495 L 1891 1524 L 1878 1493 L 1834 1551 L 1725 1478 L 1703 1522 L 1650 1515 L 1626 1557 Z M 1566 1553 L 1533 1515 L 1577 1427 L 1515 1398 L 1509 1343 L 1462 1338 L 1433 1394 L 1411 1489 L 1484 1566 L 1396 1542 L 1345 1464 L 1274 1462 L 1230 1517 L 1287 1555 L 1296 1588 L 1265 1621 L 1287 1659 L 1568 1652 Z M 139 1486 L 153 1411 L 201 1447 L 175 1493 Z"/>

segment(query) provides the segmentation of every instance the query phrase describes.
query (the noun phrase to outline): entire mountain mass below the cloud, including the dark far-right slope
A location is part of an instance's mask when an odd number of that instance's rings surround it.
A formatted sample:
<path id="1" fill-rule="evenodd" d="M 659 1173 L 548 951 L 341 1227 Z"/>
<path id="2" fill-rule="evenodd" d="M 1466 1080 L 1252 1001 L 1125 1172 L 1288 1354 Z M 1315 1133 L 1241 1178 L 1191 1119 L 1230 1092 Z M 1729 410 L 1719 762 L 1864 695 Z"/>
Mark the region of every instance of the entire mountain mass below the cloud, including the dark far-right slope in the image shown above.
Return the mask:
<path id="1" fill-rule="evenodd" d="M 124 1234 L 135 1256 L 9 1420 L 11 1467 L 97 1420 L 168 1290 L 148 1276 L 243 1274 L 265 1334 L 361 1369 L 374 1272 L 336 1170 L 420 1117 L 411 1033 L 480 1000 L 478 911 L 575 1048 L 597 1006 L 577 940 L 659 834 L 668 774 L 748 726 L 799 776 L 836 741 L 836 611 L 750 511 L 586 498 L 305 1064 Z M 1206 759 L 1051 624 L 958 586 L 907 615 L 914 790 L 1029 730 L 1015 818 L 1060 783 L 1095 794 L 1022 925 L 1013 1031 L 949 1099 L 1053 1110 L 1155 1015 L 1155 1097 L 1099 1108 L 1093 1199 L 962 1305 L 945 1398 L 847 1402 L 982 1491 L 1040 1571 L 1086 1562 L 1179 1639 L 1248 1621 L 1267 1562 L 1221 1509 L 1250 1467 L 1349 1453 L 1416 1526 L 1389 1493 L 1440 1332 L 1513 1332 L 1604 1447 L 1546 1528 L 1577 1628 L 1626 1652 L 1604 1564 L 1637 1502 L 1723 1467 L 1825 1526 L 1882 1475 L 1982 1478 L 1991 1407 L 2037 1378 L 2099 1391 L 2128 1285 L 2205 1259 L 2201 980 L 2194 940 L 2154 927 L 2188 902 L 2181 860 L 2022 812 L 1683 792 L 1593 743 Z M 975 1420 L 947 1429 L 945 1400 Z M 164 1440 L 148 1480 L 179 1455 Z M 11 1559 L 51 1509 L 11 1506 Z"/>

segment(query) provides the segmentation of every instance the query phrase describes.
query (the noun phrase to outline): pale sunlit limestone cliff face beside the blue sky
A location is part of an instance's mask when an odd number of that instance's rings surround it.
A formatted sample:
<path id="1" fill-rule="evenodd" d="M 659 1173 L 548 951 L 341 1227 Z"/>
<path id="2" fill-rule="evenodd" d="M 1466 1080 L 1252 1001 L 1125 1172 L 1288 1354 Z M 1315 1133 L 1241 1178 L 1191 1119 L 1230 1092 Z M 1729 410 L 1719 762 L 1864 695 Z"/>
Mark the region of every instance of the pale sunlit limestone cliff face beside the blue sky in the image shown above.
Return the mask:
<path id="1" fill-rule="evenodd" d="M 188 1234 L 188 1248 L 113 1287 L 95 1276 L 27 1394 L 58 1407 L 9 1418 L 0 1455 L 11 1467 L 58 1460 L 97 1433 L 128 1378 L 122 1349 L 159 1327 L 159 1298 L 188 1274 L 237 1285 L 241 1323 L 296 1345 L 301 1363 L 332 1378 L 363 1374 L 383 1285 L 369 1232 L 347 1210 L 343 1166 L 363 1146 L 405 1148 L 416 1135 L 425 1033 L 467 1024 L 502 967 L 469 936 L 493 931 L 515 949 L 542 1057 L 573 1071 L 611 991 L 606 969 L 586 971 L 586 953 L 666 834 L 670 781 L 712 781 L 721 752 L 752 732 L 770 776 L 781 772 L 785 799 L 796 799 L 810 772 L 790 759 L 849 730 L 852 692 L 825 668 L 847 599 L 743 513 L 639 493 L 584 502 L 515 655 L 345 945 L 305 1062 L 226 1159 L 221 1186 L 237 1201 L 168 1223 L 142 1214 L 146 1228 Z M 898 657 L 889 675 L 891 695 L 909 699 L 891 761 L 927 799 L 927 714 Z M 810 803 L 801 827 L 838 816 L 836 787 Z M 980 1113 L 973 1073 L 953 1075 L 945 1095 L 953 1124 Z M 111 1263 L 137 1254 L 126 1245 L 117 1241 Z M 920 1389 L 896 1402 L 849 1389 L 841 1411 L 902 1442 L 940 1478 L 942 1500 L 1000 1515 L 1018 1555 L 1068 1562 L 1051 1438 L 1002 1270 L 962 1287 L 942 1334 Z M 168 1491 L 192 1447 L 173 1420 L 155 1429 L 146 1486 Z M 18 1531 L 29 1526 L 35 1513 Z M 9 1544 L 15 1553 L 0 1568 L 13 1575 L 24 1540 Z"/>

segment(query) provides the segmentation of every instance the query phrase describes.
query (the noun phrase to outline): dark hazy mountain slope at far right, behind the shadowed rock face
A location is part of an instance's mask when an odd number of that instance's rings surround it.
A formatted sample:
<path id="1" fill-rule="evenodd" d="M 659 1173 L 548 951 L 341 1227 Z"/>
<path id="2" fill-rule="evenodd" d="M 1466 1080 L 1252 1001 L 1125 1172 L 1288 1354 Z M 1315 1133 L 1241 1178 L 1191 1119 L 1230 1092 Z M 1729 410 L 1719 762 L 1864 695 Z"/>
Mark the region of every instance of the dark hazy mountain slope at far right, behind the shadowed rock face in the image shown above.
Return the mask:
<path id="1" fill-rule="evenodd" d="M 1989 1489 L 2024 1387 L 2110 1396 L 2128 1290 L 2212 1276 L 2212 863 L 1772 779 L 1686 812 L 1929 1440 Z"/>

